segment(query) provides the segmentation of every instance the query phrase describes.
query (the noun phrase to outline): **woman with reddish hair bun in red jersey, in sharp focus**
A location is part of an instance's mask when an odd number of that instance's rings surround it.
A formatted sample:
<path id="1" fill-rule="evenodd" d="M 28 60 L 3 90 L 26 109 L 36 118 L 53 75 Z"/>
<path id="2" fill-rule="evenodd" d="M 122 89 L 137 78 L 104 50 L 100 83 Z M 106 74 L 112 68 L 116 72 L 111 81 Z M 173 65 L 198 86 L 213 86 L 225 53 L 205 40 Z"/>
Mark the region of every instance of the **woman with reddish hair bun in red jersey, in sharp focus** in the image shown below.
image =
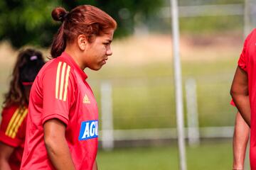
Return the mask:
<path id="1" fill-rule="evenodd" d="M 21 169 L 97 169 L 98 110 L 83 70 L 106 64 L 117 23 L 88 5 L 52 17 L 61 25 L 31 89 Z"/>

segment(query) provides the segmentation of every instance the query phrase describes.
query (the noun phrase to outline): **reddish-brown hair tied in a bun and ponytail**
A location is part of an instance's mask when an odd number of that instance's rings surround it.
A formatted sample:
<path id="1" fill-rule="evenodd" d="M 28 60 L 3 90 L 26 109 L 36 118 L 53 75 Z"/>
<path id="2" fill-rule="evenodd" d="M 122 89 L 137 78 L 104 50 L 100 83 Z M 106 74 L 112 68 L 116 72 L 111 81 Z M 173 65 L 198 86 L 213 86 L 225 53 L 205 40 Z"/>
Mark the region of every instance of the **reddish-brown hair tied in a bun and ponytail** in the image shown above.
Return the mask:
<path id="1" fill-rule="evenodd" d="M 70 12 L 58 7 L 53 9 L 51 14 L 55 21 L 62 22 L 58 33 L 53 38 L 50 50 L 53 58 L 60 56 L 67 42 L 73 42 L 78 35 L 84 34 L 88 41 L 92 42 L 93 37 L 117 28 L 116 21 L 95 6 L 82 5 L 73 8 Z"/>

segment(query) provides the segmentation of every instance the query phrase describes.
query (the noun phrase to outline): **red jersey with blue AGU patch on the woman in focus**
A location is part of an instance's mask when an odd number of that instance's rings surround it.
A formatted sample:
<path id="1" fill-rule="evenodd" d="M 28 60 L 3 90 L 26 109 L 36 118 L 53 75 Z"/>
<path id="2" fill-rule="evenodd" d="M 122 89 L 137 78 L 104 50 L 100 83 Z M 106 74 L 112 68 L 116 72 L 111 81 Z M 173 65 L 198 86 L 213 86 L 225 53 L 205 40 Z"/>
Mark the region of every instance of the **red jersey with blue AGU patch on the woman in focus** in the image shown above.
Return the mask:
<path id="1" fill-rule="evenodd" d="M 75 169 L 92 169 L 97 154 L 98 110 L 87 75 L 63 52 L 47 62 L 31 88 L 21 169 L 53 169 L 43 140 L 43 123 L 58 118 Z"/>

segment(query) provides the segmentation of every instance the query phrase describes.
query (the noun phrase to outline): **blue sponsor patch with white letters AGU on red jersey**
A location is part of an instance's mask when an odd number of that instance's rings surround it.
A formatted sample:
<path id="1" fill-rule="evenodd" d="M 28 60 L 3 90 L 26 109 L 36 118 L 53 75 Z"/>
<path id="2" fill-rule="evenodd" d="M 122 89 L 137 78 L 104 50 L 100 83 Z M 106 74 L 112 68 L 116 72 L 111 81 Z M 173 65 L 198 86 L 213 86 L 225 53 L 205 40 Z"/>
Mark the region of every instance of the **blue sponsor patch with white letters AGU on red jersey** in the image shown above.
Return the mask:
<path id="1" fill-rule="evenodd" d="M 98 120 L 89 120 L 81 123 L 78 140 L 89 140 L 98 137 Z"/>

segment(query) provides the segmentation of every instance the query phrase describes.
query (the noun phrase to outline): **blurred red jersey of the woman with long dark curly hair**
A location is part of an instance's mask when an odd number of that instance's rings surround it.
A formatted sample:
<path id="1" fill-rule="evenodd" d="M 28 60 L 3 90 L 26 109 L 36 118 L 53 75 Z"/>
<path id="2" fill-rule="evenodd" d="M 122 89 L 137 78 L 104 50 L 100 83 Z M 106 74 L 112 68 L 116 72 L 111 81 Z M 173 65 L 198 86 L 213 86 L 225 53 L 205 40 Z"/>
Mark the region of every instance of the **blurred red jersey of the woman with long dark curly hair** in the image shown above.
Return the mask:
<path id="1" fill-rule="evenodd" d="M 21 166 L 27 113 L 27 107 L 21 108 L 16 105 L 6 107 L 2 111 L 0 141 L 14 147 L 14 152 L 9 159 L 9 164 L 13 170 L 18 170 Z"/>

